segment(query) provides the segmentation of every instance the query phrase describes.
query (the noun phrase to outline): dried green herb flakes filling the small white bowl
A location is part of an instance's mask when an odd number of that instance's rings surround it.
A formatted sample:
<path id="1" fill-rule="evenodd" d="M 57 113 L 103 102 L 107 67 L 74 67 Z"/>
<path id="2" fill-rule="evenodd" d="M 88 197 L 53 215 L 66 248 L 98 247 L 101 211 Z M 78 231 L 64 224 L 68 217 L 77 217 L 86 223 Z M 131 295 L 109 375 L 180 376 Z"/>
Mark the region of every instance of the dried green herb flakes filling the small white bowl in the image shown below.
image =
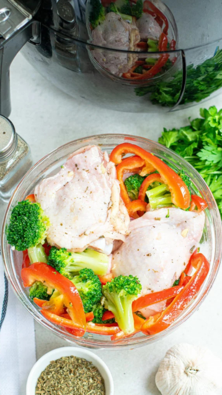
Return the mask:
<path id="1" fill-rule="evenodd" d="M 37 380 L 35 395 L 105 395 L 104 380 L 91 362 L 71 355 L 50 362 Z"/>

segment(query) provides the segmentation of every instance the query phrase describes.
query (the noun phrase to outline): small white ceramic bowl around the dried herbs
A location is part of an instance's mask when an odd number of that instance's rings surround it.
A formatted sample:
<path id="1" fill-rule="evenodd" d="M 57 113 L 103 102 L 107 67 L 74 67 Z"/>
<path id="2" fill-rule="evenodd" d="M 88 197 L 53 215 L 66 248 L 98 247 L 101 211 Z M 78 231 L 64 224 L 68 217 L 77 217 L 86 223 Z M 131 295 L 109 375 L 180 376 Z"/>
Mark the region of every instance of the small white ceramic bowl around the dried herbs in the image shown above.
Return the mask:
<path id="1" fill-rule="evenodd" d="M 103 360 L 97 357 L 97 355 L 93 354 L 93 352 L 77 347 L 56 348 L 55 350 L 47 352 L 47 354 L 43 355 L 35 363 L 32 370 L 30 371 L 30 374 L 28 375 L 28 380 L 26 384 L 26 395 L 35 395 L 37 380 L 41 372 L 45 370 L 45 368 L 50 364 L 51 361 L 54 361 L 55 359 L 59 359 L 61 357 L 68 357 L 69 355 L 84 358 L 87 361 L 93 363 L 93 365 L 97 367 L 98 371 L 104 379 L 106 395 L 114 395 L 113 379 L 110 370 L 103 362 Z"/>

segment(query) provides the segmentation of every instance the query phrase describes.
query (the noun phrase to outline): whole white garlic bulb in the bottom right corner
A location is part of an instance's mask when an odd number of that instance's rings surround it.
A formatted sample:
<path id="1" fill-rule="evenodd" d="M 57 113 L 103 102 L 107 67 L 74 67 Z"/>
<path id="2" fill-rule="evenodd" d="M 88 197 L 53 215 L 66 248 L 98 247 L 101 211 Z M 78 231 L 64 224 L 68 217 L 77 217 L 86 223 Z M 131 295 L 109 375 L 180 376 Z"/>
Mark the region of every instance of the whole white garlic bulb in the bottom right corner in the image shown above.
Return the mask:
<path id="1" fill-rule="evenodd" d="M 217 395 L 222 361 L 206 348 L 177 344 L 167 351 L 155 380 L 162 395 Z"/>

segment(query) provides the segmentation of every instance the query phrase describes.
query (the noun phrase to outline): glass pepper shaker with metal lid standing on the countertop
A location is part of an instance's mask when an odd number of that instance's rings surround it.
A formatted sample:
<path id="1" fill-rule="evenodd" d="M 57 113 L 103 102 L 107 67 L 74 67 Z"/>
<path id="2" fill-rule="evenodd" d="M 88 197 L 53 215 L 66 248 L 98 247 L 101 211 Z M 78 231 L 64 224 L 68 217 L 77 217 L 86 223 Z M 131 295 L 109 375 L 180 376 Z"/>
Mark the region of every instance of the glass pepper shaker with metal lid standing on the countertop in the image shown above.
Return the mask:
<path id="1" fill-rule="evenodd" d="M 17 135 L 11 121 L 0 115 L 0 199 L 10 199 L 31 166 L 30 147 Z"/>

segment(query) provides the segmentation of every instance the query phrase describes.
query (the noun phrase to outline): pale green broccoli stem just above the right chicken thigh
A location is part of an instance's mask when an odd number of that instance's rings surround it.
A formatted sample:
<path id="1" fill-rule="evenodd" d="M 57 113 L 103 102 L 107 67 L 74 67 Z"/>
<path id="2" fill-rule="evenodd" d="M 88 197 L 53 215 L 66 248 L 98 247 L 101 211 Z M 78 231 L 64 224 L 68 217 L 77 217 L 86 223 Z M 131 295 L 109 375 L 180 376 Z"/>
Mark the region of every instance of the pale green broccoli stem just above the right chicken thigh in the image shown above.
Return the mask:
<path id="1" fill-rule="evenodd" d="M 151 209 L 172 206 L 171 194 L 167 193 L 169 188 L 166 184 L 160 184 L 146 192 Z"/>

